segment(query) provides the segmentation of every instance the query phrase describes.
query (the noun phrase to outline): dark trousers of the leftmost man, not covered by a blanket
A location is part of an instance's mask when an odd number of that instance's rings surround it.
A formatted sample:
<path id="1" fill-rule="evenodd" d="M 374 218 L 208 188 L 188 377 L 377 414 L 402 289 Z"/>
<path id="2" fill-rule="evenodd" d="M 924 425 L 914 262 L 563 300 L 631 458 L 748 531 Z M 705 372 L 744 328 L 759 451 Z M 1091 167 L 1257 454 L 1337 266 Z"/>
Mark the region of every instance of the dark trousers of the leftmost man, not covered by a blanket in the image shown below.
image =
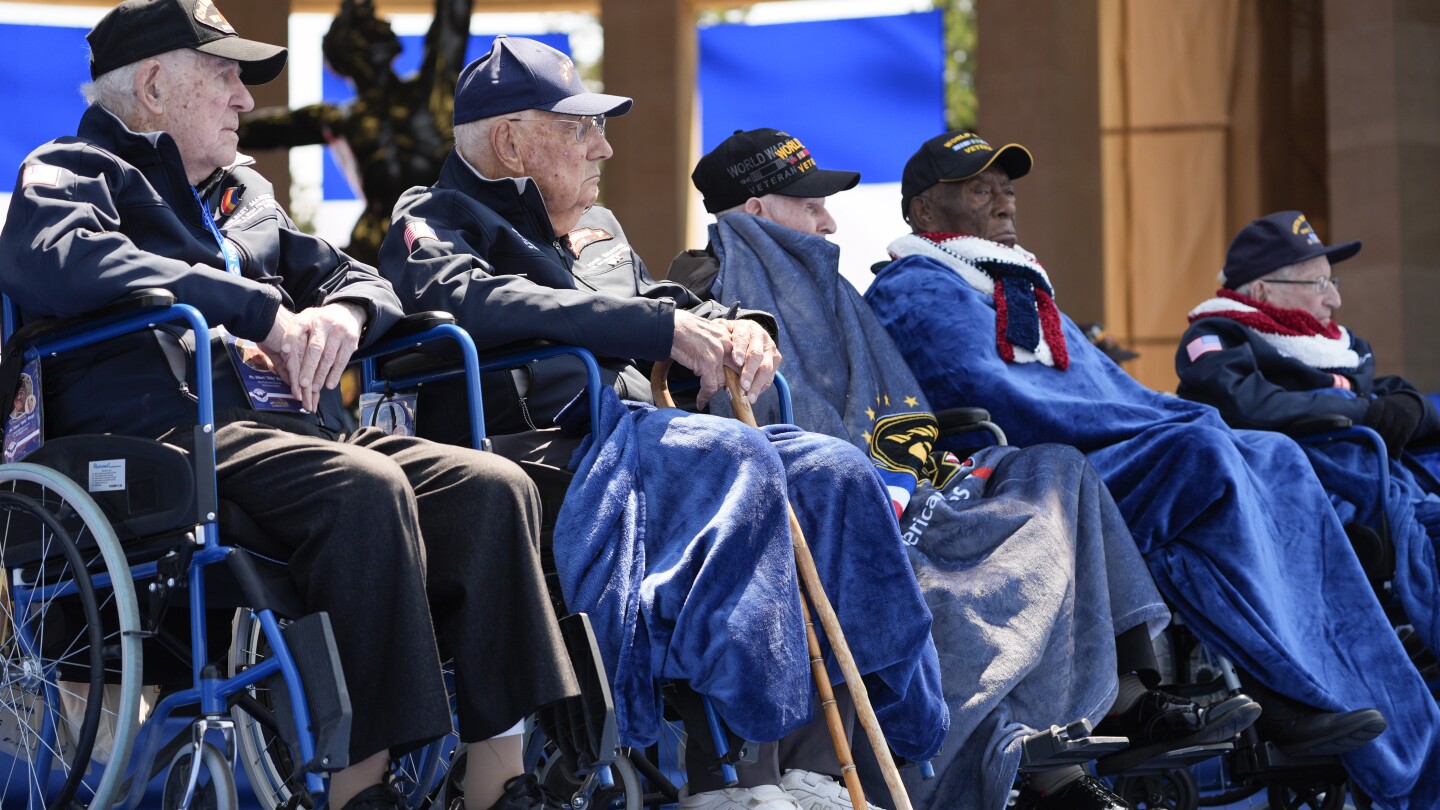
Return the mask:
<path id="1" fill-rule="evenodd" d="M 442 654 L 465 741 L 576 693 L 540 574 L 539 496 L 516 464 L 373 428 L 230 417 L 216 432 L 220 497 L 288 549 L 307 610 L 328 611 L 353 762 L 451 729 Z"/>

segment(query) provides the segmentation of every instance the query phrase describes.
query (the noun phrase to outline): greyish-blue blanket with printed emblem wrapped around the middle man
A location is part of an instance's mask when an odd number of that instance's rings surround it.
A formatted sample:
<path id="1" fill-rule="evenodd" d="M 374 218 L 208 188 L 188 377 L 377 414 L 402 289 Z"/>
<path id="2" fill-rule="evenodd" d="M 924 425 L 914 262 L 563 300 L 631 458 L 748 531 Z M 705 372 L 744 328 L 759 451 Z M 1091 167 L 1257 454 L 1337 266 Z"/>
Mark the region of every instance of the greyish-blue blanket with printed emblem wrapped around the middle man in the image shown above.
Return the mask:
<path id="1" fill-rule="evenodd" d="M 835 245 L 747 215 L 721 218 L 710 244 L 720 298 L 779 320 L 796 424 L 848 438 L 880 468 L 904 468 L 910 448 L 930 455 L 929 441 L 907 441 L 910 417 L 929 415 L 929 405 L 837 272 Z M 1115 637 L 1142 623 L 1158 631 L 1169 611 L 1076 450 L 988 448 L 956 461 L 943 489 L 932 484 L 939 468 L 916 471 L 900 528 L 935 615 L 950 735 L 933 761 L 937 778 L 907 787 L 916 807 L 998 810 L 1021 739 L 1079 718 L 1099 722 L 1115 700 Z"/>

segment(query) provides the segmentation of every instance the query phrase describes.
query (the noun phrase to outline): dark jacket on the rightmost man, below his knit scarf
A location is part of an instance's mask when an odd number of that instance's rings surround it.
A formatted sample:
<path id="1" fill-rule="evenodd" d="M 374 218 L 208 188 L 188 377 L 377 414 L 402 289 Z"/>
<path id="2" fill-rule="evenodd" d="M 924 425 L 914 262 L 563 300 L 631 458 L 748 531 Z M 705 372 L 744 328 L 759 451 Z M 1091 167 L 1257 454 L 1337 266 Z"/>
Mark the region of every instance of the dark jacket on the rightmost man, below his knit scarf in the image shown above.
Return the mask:
<path id="1" fill-rule="evenodd" d="M 1218 352 L 1189 359 L 1187 346 L 1202 336 L 1220 339 Z M 1287 357 L 1251 329 L 1230 319 L 1205 317 L 1189 326 L 1175 355 L 1179 375 L 1178 393 L 1205 402 L 1237 428 L 1279 430 L 1305 417 L 1342 415 L 1365 424 L 1365 411 L 1377 395 L 1405 391 L 1424 406 L 1416 435 L 1440 430 L 1440 417 L 1427 396 L 1398 376 L 1375 376 L 1375 356 L 1369 343 L 1351 336 L 1351 349 L 1359 355 L 1354 369 L 1318 369 Z M 1333 373 L 1348 380 L 1349 392 L 1336 388 Z"/>

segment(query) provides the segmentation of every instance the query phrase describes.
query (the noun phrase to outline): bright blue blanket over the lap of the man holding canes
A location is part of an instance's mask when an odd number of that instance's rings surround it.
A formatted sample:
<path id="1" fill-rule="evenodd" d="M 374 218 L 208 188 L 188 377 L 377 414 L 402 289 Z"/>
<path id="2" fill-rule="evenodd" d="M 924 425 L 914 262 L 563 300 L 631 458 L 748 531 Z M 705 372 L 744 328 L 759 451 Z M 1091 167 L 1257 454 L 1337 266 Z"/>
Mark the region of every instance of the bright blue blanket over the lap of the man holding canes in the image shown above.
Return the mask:
<path id="1" fill-rule="evenodd" d="M 600 422 L 554 555 L 566 604 L 590 614 L 624 745 L 655 742 L 660 679 L 688 680 L 746 739 L 809 721 L 788 494 L 891 747 L 914 758 L 940 748 L 949 718 L 930 611 L 864 455 L 792 425 L 756 431 L 612 391 Z M 824 634 L 821 646 L 840 682 Z"/>

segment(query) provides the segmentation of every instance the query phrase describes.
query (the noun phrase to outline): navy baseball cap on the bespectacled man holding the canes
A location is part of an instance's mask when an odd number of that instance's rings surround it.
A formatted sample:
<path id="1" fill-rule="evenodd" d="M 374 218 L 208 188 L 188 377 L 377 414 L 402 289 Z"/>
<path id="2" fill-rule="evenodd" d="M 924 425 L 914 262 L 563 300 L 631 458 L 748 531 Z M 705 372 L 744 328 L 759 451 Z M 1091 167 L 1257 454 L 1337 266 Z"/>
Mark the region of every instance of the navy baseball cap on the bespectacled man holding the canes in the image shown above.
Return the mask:
<path id="1" fill-rule="evenodd" d="M 459 72 L 455 123 L 468 124 L 521 110 L 564 115 L 624 115 L 624 95 L 589 92 L 569 56 L 523 36 L 497 36 L 490 53 Z"/>

